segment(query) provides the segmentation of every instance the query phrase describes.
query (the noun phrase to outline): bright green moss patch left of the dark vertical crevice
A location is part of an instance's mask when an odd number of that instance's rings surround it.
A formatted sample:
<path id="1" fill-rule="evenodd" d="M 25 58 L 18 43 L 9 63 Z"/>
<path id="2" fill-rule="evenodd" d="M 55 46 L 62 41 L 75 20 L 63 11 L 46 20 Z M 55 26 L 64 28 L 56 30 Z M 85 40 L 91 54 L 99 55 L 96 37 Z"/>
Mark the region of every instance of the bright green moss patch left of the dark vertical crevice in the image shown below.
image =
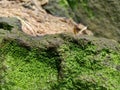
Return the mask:
<path id="1" fill-rule="evenodd" d="M 57 81 L 55 57 L 37 49 L 27 50 L 14 42 L 6 43 L 1 52 L 5 56 L 7 90 L 47 90 Z M 54 55 L 54 54 L 53 54 Z"/>

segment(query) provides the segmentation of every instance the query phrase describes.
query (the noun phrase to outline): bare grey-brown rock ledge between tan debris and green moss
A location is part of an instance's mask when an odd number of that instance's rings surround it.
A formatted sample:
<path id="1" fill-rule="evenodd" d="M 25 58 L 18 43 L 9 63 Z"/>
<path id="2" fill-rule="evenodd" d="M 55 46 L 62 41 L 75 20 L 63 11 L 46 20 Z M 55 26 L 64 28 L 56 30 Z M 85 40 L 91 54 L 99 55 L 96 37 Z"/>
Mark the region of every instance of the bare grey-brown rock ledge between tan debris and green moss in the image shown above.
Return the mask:
<path id="1" fill-rule="evenodd" d="M 73 42 L 74 42 L 74 40 L 75 41 L 78 40 L 78 43 L 79 43 L 79 39 L 80 39 L 80 40 L 82 40 L 82 42 L 86 42 L 86 41 L 87 41 L 86 43 L 91 42 L 92 44 L 94 44 L 96 46 L 100 46 L 100 47 L 104 47 L 104 48 L 108 46 L 111 49 L 115 49 L 115 48 L 117 48 L 117 46 L 119 47 L 119 44 L 115 40 L 109 40 L 109 39 L 107 40 L 105 38 L 96 38 L 94 36 L 88 36 L 88 35 L 76 35 L 75 36 L 74 34 L 70 34 L 70 33 L 61 33 L 61 34 L 33 37 L 33 36 L 25 34 L 22 31 L 22 25 L 21 25 L 20 20 L 17 18 L 14 18 L 14 17 L 12 17 L 12 18 L 0 17 L 0 35 L 4 36 L 4 37 L 8 37 L 8 38 L 13 38 L 13 39 L 21 39 L 22 41 L 28 40 L 25 42 L 29 42 L 29 39 L 33 38 L 33 42 L 34 41 L 38 42 L 38 44 L 33 43 L 34 45 L 37 45 L 37 46 L 39 46 L 41 39 L 42 38 L 44 39 L 44 37 L 46 37 L 46 40 L 61 38 L 61 42 L 64 42 L 64 40 L 69 41 L 69 39 L 70 39 Z M 12 36 L 14 36 L 14 37 L 12 37 Z M 49 37 L 51 37 L 51 38 L 49 38 Z M 56 41 L 57 40 L 53 40 L 52 42 L 57 44 L 58 42 L 56 42 Z M 31 43 L 31 41 L 29 43 Z M 84 44 L 84 43 L 81 43 L 81 44 Z"/>

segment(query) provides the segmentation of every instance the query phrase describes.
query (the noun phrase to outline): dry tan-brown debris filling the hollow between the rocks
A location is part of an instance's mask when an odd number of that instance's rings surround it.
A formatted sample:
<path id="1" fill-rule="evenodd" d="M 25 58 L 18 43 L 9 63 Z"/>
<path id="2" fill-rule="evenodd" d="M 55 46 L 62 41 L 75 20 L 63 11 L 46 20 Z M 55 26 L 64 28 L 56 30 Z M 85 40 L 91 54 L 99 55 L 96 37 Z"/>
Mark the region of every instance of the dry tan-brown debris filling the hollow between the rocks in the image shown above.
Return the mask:
<path id="1" fill-rule="evenodd" d="M 78 33 L 85 27 L 82 24 L 75 23 L 71 19 L 48 14 L 41 7 L 41 5 L 44 5 L 47 2 L 48 0 L 1 0 L 0 17 L 18 18 L 22 23 L 23 32 L 32 36 L 56 33 L 75 33 L 75 27 L 77 27 Z M 39 3 L 39 7 L 36 3 Z M 87 29 L 83 34 L 93 35 L 92 32 Z"/>

